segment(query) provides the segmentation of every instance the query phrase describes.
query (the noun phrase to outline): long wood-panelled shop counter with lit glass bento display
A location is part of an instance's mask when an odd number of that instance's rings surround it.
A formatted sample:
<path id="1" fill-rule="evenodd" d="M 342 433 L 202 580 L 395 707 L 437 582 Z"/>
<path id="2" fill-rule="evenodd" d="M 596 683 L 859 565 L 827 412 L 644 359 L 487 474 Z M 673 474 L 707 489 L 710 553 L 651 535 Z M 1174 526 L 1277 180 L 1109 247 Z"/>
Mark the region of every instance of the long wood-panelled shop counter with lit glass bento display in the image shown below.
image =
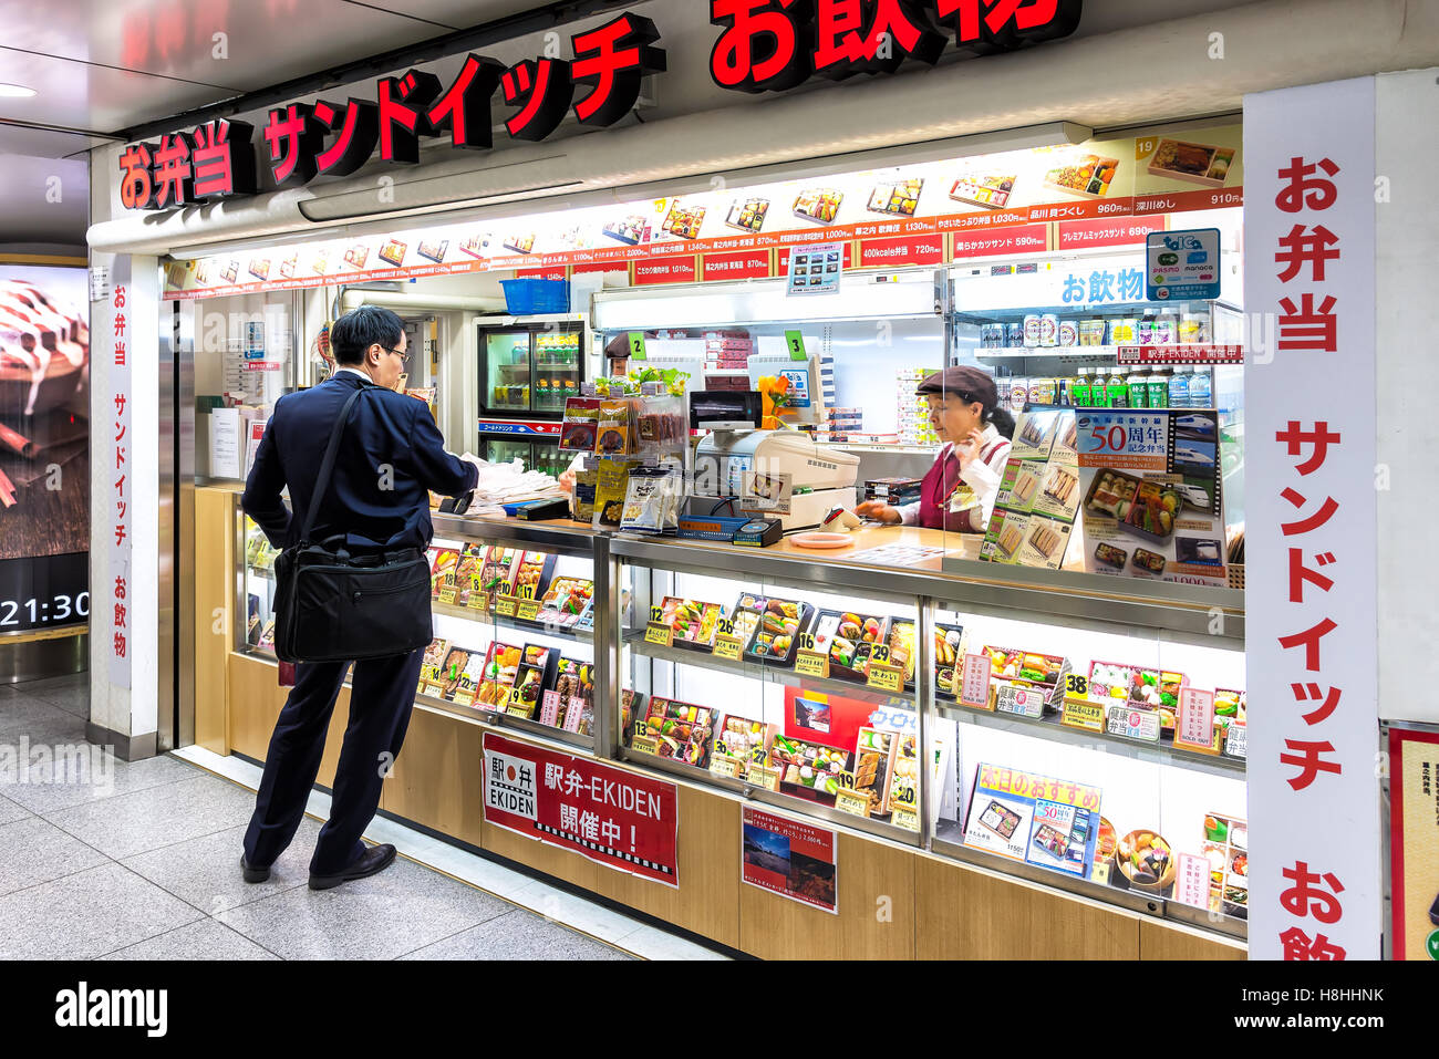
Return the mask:
<path id="1" fill-rule="evenodd" d="M 197 742 L 262 761 L 273 554 L 232 488 L 199 489 L 196 524 L 224 541 L 196 613 L 235 619 L 197 647 Z M 1166 705 L 1242 699 L 1239 593 L 435 524 L 436 642 L 383 812 L 764 958 L 1243 958 L 1242 740 L 1184 745 Z M 672 852 L 626 869 L 522 833 L 486 800 L 517 755 L 661 791 Z"/>

